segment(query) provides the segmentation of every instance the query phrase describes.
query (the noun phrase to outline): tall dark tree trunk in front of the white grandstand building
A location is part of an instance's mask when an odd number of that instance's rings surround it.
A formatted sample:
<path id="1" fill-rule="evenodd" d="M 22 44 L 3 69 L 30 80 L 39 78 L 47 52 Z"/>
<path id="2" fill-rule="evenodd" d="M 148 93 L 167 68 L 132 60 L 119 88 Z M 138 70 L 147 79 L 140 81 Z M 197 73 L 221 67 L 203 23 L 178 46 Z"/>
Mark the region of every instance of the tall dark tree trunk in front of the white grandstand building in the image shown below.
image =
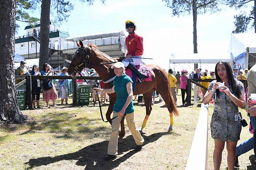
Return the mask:
<path id="1" fill-rule="evenodd" d="M 42 0 L 40 19 L 40 59 L 39 68 L 48 63 L 49 31 L 50 31 L 50 5 L 51 0 Z"/>

